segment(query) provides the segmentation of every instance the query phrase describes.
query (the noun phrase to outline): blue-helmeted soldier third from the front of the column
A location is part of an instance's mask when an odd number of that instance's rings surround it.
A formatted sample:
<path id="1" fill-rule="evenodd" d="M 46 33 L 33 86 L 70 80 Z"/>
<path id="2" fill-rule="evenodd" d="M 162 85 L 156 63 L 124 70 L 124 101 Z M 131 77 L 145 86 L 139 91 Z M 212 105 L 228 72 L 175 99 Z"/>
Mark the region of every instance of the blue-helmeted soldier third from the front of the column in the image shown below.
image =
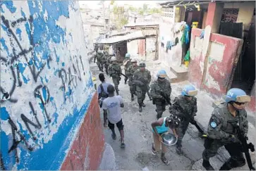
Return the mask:
<path id="1" fill-rule="evenodd" d="M 171 96 L 171 83 L 169 80 L 166 80 L 166 76 L 167 74 L 165 70 L 159 70 L 157 73 L 157 81 L 153 82 L 150 89 L 153 104 L 155 104 L 157 107 L 157 120 L 161 118 L 161 115 L 165 111 L 165 107 L 168 104 L 166 98 L 170 99 Z"/>

